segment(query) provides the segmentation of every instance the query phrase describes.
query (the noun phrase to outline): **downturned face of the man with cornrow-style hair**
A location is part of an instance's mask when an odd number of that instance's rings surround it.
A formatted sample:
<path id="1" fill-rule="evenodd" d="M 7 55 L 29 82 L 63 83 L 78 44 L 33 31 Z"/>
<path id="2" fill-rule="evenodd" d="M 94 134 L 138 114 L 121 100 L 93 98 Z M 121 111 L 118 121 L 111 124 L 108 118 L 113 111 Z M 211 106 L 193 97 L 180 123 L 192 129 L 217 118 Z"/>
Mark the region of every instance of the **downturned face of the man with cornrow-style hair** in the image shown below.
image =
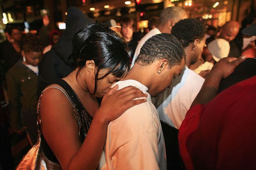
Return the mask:
<path id="1" fill-rule="evenodd" d="M 163 93 L 167 88 L 172 85 L 172 80 L 180 75 L 185 64 L 183 58 L 180 65 L 173 66 L 172 68 L 165 67 L 160 74 L 157 74 L 156 83 L 148 89 L 148 93 L 151 97 L 156 97 L 158 94 Z"/>

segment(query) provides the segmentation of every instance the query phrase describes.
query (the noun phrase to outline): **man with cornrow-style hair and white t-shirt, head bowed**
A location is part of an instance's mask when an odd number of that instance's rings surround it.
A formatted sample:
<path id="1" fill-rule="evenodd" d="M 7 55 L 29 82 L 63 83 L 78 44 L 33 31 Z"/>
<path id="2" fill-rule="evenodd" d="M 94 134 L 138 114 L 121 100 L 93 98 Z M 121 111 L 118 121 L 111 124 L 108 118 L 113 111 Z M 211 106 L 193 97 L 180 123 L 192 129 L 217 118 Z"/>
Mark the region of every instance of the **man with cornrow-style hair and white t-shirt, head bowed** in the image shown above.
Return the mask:
<path id="1" fill-rule="evenodd" d="M 173 35 L 162 33 L 145 42 L 132 69 L 116 84 L 119 89 L 139 88 L 148 95 L 147 102 L 130 108 L 108 124 L 103 170 L 166 169 L 164 136 L 151 96 L 170 87 L 184 64 L 185 52 Z"/>

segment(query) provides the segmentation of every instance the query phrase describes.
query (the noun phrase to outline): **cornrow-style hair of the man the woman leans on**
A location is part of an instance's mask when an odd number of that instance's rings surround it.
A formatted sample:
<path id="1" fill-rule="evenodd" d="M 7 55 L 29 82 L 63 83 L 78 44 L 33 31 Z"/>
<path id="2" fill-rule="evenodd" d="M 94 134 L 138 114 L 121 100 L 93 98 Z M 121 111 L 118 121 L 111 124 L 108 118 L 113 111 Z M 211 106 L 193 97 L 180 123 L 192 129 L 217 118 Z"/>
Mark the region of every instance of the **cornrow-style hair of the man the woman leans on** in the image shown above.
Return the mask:
<path id="1" fill-rule="evenodd" d="M 148 66 L 155 60 L 168 60 L 168 68 L 181 63 L 185 58 L 185 52 L 180 41 L 173 35 L 162 33 L 149 38 L 140 49 L 136 63 L 140 66 Z"/>

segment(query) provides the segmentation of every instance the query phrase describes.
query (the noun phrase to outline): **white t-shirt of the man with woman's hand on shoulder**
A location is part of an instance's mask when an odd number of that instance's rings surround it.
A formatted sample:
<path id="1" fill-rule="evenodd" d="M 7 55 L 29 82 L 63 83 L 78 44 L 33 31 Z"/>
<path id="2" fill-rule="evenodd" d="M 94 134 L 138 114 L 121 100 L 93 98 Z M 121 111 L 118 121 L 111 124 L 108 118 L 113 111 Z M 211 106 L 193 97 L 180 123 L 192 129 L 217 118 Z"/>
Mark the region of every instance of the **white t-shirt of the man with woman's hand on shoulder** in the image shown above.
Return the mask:
<path id="1" fill-rule="evenodd" d="M 156 108 L 147 93 L 148 88 L 135 80 L 119 81 L 116 84 L 119 89 L 137 87 L 148 97 L 146 103 L 133 106 L 108 124 L 106 164 L 102 170 L 165 170 L 164 136 Z"/>

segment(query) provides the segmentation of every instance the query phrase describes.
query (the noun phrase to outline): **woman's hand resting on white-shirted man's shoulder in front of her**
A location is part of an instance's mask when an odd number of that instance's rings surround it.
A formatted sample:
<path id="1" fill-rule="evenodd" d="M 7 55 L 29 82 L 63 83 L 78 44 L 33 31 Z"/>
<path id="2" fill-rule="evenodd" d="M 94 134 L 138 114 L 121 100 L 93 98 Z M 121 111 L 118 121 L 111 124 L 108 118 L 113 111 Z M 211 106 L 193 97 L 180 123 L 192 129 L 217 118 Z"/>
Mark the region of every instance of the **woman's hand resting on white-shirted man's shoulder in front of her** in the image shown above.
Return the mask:
<path id="1" fill-rule="evenodd" d="M 145 98 L 134 100 L 135 98 L 148 96 L 136 87 L 128 86 L 120 90 L 117 89 L 118 85 L 109 90 L 103 97 L 100 108 L 95 113 L 95 115 L 100 114 L 99 117 L 105 123 L 115 120 L 129 108 L 147 101 Z"/>

